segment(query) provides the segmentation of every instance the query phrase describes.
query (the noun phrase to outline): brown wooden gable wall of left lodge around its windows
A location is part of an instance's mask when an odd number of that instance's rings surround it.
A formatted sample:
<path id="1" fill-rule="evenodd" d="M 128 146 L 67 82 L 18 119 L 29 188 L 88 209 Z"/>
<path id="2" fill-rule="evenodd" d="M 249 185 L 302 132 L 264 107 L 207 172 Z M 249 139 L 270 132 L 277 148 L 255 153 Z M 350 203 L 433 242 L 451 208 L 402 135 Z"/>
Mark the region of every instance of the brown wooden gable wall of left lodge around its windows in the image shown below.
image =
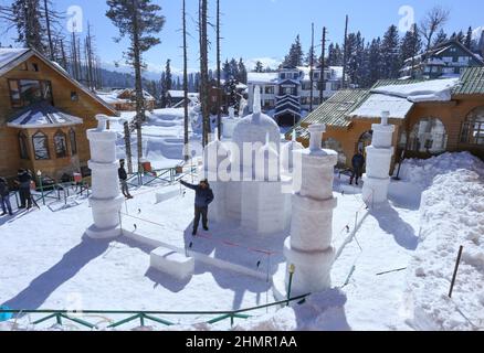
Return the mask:
<path id="1" fill-rule="evenodd" d="M 73 116 L 83 119 L 84 124 L 76 127 L 78 163 L 87 165 L 90 159 L 90 147 L 85 131 L 97 126 L 95 116 L 97 114 L 113 115 L 113 111 L 99 101 L 81 90 L 72 82 L 63 77 L 56 71 L 46 65 L 41 58 L 32 56 L 27 61 L 29 71 L 22 71 L 21 66 L 11 69 L 0 77 L 0 175 L 11 176 L 17 174 L 20 167 L 25 167 L 25 161 L 20 160 L 18 129 L 7 127 L 7 121 L 14 114 L 10 101 L 10 89 L 8 79 L 43 79 L 52 83 L 54 106 Z M 39 72 L 32 69 L 32 64 L 39 65 Z M 78 99 L 71 100 L 71 92 L 76 92 Z M 56 129 L 55 129 L 56 131 Z M 55 131 L 53 133 L 55 133 Z M 44 131 L 45 132 L 45 131 Z M 50 133 L 50 132 L 49 132 Z M 50 139 L 50 145 L 53 141 Z M 53 148 L 53 145 L 52 145 Z M 51 161 L 44 161 L 45 168 L 50 171 L 65 168 L 65 161 L 56 160 L 54 154 Z M 55 178 L 56 175 L 51 175 Z"/>

